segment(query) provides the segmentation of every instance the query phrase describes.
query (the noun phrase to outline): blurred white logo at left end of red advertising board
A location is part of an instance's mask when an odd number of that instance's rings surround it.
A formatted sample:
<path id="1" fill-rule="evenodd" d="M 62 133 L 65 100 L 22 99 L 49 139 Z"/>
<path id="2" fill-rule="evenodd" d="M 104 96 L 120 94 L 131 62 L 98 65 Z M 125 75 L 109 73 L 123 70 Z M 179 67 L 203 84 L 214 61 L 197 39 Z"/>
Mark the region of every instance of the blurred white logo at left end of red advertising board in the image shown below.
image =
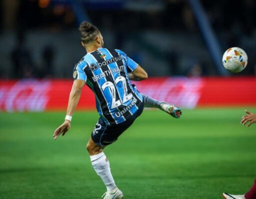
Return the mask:
<path id="1" fill-rule="evenodd" d="M 7 112 L 44 111 L 49 101 L 49 81 L 21 80 L 10 88 L 0 87 L 0 107 Z"/>

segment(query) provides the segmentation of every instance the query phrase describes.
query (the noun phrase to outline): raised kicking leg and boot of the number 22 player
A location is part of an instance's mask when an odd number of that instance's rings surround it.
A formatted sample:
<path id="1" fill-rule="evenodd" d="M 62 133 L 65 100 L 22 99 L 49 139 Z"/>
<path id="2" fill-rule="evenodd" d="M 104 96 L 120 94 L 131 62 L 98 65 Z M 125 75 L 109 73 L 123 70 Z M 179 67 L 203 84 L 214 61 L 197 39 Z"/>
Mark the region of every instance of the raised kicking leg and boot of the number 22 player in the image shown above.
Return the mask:
<path id="1" fill-rule="evenodd" d="M 147 95 L 142 94 L 143 100 L 144 100 L 144 107 L 146 108 L 157 108 L 160 109 L 167 114 L 170 114 L 171 116 L 175 118 L 180 118 L 182 112 L 178 107 L 175 107 L 172 104 L 169 104 L 167 102 L 158 101 L 156 99 L 153 99 L 152 97 L 149 97 Z"/>

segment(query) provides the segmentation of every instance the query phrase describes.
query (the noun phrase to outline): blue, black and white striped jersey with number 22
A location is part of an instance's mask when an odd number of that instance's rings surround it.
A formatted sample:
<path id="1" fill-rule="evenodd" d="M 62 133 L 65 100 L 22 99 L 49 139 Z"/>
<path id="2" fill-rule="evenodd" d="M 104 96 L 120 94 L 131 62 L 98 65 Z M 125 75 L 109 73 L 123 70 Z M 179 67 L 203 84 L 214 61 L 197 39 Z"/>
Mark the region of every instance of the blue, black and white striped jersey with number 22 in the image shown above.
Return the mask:
<path id="1" fill-rule="evenodd" d="M 98 48 L 75 66 L 74 80 L 83 80 L 93 90 L 96 108 L 107 123 L 122 123 L 142 103 L 142 96 L 130 84 L 128 73 L 138 64 L 123 51 Z"/>

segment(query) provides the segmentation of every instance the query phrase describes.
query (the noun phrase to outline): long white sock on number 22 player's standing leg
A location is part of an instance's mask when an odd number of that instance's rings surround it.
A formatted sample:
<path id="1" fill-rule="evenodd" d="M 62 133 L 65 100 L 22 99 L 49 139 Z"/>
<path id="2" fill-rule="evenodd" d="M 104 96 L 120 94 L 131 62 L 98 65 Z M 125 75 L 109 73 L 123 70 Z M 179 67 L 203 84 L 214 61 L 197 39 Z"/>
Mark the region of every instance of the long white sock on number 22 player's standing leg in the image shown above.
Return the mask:
<path id="1" fill-rule="evenodd" d="M 94 167 L 94 170 L 106 185 L 107 191 L 109 193 L 115 192 L 117 189 L 117 186 L 115 184 L 115 181 L 110 171 L 109 161 L 105 156 L 104 152 L 101 152 L 96 155 L 92 155 L 90 156 L 90 158 L 91 158 L 91 162 Z"/>

